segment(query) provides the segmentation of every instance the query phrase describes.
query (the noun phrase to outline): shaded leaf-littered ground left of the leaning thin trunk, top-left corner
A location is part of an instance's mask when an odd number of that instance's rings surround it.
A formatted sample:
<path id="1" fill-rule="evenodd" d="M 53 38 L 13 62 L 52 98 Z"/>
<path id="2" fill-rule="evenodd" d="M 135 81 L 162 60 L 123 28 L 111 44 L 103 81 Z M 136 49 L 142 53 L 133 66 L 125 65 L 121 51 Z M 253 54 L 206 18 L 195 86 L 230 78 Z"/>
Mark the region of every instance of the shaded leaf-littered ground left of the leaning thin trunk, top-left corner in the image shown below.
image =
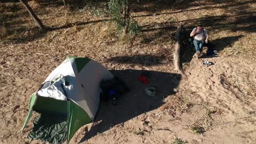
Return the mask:
<path id="1" fill-rule="evenodd" d="M 0 9 L 0 13 L 2 13 L 0 14 L 0 19 L 3 20 L 0 23 L 0 27 L 2 26 L 6 29 L 5 37 L 1 38 L 0 42 L 23 43 L 34 41 L 43 36 L 37 26 L 26 26 L 26 23 L 29 23 L 33 18 L 28 17 L 28 12 L 20 2 L 4 4 L 3 9 Z"/>

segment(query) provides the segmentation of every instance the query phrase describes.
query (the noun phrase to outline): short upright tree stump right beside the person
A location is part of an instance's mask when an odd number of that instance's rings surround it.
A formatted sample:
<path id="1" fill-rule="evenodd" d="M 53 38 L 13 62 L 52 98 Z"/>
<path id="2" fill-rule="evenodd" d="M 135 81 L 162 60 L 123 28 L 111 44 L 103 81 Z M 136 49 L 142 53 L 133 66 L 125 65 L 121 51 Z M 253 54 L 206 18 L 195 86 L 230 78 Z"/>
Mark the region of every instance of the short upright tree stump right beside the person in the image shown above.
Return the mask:
<path id="1" fill-rule="evenodd" d="M 177 28 L 175 39 L 176 39 L 176 43 L 174 46 L 174 53 L 173 53 L 174 68 L 178 70 L 179 74 L 185 75 L 182 69 L 181 58 L 185 50 L 186 29 L 182 25 Z"/>

